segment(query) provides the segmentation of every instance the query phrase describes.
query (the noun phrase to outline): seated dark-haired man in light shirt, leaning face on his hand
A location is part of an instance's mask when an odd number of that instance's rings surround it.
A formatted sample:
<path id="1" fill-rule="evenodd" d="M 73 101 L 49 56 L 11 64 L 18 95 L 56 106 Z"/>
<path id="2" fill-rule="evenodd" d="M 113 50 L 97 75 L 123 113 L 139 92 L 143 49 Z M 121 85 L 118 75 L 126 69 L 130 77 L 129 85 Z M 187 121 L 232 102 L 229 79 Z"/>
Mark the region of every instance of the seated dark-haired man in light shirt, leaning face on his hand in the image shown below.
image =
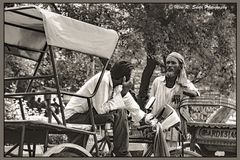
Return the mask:
<path id="1" fill-rule="evenodd" d="M 129 128 L 126 111 L 129 111 L 134 122 L 139 122 L 145 116 L 145 112 L 140 109 L 129 93 L 132 87 L 132 69 L 133 65 L 129 62 L 115 63 L 110 71 L 104 73 L 99 89 L 92 98 L 95 123 L 113 123 L 113 152 L 116 156 L 131 156 L 128 151 Z M 100 74 L 98 73 L 89 79 L 77 91 L 77 94 L 89 96 L 93 93 Z M 90 115 L 87 99 L 72 97 L 65 108 L 65 116 L 67 123 L 89 124 Z M 70 135 L 69 139 L 71 140 L 75 136 Z M 78 144 L 86 146 L 83 138 Z"/>

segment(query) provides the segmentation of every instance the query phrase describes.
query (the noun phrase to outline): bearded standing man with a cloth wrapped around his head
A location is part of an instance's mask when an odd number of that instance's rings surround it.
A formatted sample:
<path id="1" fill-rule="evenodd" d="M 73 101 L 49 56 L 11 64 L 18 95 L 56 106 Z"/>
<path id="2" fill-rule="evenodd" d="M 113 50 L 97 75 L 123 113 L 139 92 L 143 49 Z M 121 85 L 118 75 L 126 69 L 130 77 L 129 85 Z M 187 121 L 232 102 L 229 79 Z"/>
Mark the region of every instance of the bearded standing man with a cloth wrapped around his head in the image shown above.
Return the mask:
<path id="1" fill-rule="evenodd" d="M 148 114 L 146 117 L 146 121 L 157 116 L 165 105 L 176 108 L 179 100 L 184 95 L 194 97 L 198 96 L 199 92 L 192 82 L 187 79 L 183 56 L 177 52 L 172 52 L 166 58 L 166 74 L 157 77 L 153 81 L 150 97 L 153 96 L 156 100 L 151 114 Z M 176 147 L 178 131 L 175 128 L 171 128 L 170 131 L 166 132 L 165 139 L 168 147 Z"/>

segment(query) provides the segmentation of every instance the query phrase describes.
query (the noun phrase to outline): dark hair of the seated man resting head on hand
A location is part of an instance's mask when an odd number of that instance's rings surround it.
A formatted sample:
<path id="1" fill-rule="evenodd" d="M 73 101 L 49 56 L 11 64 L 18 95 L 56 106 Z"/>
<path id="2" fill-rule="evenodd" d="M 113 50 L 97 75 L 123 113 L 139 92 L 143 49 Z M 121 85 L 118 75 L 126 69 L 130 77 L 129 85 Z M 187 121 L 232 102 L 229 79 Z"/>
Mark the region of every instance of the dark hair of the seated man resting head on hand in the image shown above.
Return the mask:
<path id="1" fill-rule="evenodd" d="M 128 81 L 130 79 L 131 71 L 133 68 L 133 65 L 127 61 L 120 61 L 115 63 L 110 70 L 112 79 L 118 80 L 125 76 L 126 81 Z"/>

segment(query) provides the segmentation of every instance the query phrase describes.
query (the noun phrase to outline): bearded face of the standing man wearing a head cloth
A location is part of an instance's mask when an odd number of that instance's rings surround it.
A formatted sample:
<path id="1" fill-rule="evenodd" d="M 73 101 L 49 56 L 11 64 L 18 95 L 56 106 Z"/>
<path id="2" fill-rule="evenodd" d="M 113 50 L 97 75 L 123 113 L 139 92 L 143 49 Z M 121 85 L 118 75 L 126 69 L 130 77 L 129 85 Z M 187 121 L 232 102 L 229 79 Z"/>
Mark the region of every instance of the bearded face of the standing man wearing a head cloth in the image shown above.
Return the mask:
<path id="1" fill-rule="evenodd" d="M 166 76 L 175 77 L 179 74 L 180 64 L 179 61 L 174 57 L 168 57 L 166 61 Z"/>

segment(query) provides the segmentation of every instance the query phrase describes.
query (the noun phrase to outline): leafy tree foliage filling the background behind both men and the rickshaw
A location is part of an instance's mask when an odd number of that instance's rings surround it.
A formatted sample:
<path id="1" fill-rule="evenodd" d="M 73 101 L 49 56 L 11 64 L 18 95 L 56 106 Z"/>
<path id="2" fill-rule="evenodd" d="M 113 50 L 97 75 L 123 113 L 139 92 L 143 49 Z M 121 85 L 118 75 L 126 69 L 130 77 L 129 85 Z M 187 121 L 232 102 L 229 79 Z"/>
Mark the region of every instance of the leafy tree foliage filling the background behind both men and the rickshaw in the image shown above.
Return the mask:
<path id="1" fill-rule="evenodd" d="M 230 95 L 236 87 L 236 4 L 164 4 L 164 3 L 45 3 L 43 8 L 100 27 L 116 30 L 120 39 L 112 63 L 131 60 L 142 69 L 139 98 L 146 99 L 152 74 L 172 51 L 181 53 L 189 78 L 202 89 Z M 222 9 L 194 9 L 194 7 Z M 100 61 L 60 50 L 57 60 L 61 86 L 73 90 L 95 72 Z M 13 59 L 8 59 L 16 63 Z M 10 63 L 10 62 L 9 62 Z M 9 66 L 13 66 L 10 64 Z M 25 65 L 25 64 L 21 64 Z M 20 64 L 18 69 L 28 73 Z M 44 65 L 43 65 L 44 66 Z M 50 72 L 45 64 L 40 73 Z M 10 67 L 11 68 L 11 67 Z M 5 72 L 16 74 L 17 68 Z M 85 70 L 85 71 L 84 71 Z M 96 70 L 98 71 L 98 69 Z M 5 73 L 6 74 L 6 73 Z M 71 78 L 69 78 L 71 77 Z M 49 83 L 49 82 L 46 82 Z M 75 89 L 74 89 L 75 88 Z"/>

